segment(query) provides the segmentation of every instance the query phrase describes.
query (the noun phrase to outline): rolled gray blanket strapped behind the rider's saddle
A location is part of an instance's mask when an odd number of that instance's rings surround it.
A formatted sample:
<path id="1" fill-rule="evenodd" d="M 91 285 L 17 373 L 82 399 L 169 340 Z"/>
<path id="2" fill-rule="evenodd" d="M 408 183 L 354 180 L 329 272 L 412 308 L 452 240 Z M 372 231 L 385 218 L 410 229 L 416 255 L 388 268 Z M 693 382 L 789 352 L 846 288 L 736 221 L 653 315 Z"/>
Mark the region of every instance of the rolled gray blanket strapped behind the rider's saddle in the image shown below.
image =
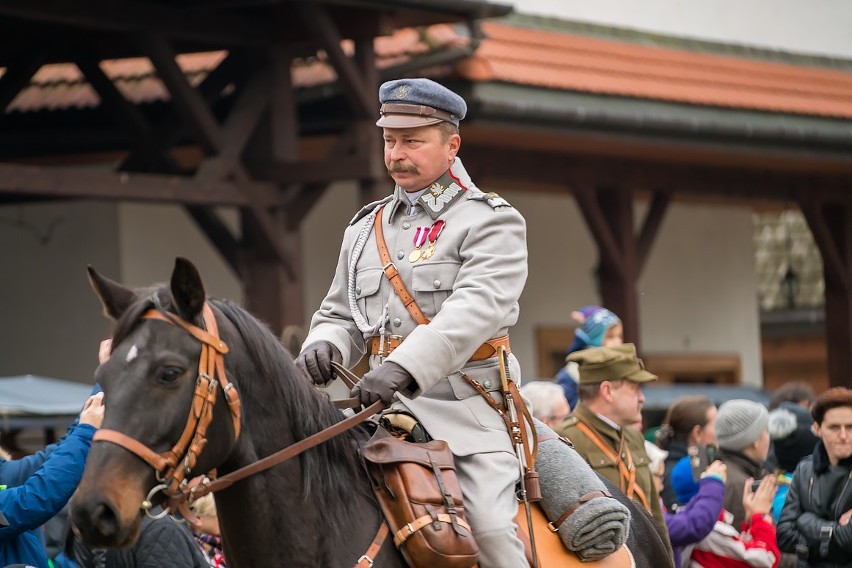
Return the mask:
<path id="1" fill-rule="evenodd" d="M 539 436 L 538 457 L 535 467 L 541 482 L 541 507 L 548 520 L 555 522 L 581 497 L 606 487 L 574 451 L 558 435 L 537 418 Z M 559 538 L 583 562 L 600 560 L 624 544 L 630 529 L 630 511 L 607 497 L 598 497 L 583 503 L 557 527 Z"/>

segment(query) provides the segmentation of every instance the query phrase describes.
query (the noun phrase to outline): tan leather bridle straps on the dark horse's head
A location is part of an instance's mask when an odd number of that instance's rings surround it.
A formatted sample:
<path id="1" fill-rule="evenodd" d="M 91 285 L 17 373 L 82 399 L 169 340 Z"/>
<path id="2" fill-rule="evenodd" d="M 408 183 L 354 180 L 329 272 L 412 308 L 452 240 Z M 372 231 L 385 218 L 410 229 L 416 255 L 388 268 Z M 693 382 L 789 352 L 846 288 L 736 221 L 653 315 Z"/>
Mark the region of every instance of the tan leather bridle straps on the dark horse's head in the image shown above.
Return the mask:
<path id="1" fill-rule="evenodd" d="M 143 503 L 142 508 L 146 513 L 150 511 L 151 496 L 156 491 L 162 490 L 170 499 L 177 498 L 183 485 L 187 483 L 187 477 L 192 473 L 199 454 L 207 444 L 207 427 L 213 419 L 217 384 L 222 387 L 231 410 L 234 441 L 240 435 L 240 397 L 237 389 L 225 376 L 224 355 L 228 353 L 228 346 L 219 339 L 216 318 L 206 302 L 202 314 L 206 330 L 170 312 L 148 310 L 142 314 L 142 319 L 160 320 L 180 327 L 201 342 L 201 357 L 198 361 L 198 378 L 192 395 L 192 405 L 186 426 L 177 443 L 170 450 L 158 454 L 145 444 L 117 430 L 100 429 L 92 438 L 94 442 L 111 442 L 119 445 L 139 456 L 154 469 L 160 485 L 151 490 L 148 499 Z"/>

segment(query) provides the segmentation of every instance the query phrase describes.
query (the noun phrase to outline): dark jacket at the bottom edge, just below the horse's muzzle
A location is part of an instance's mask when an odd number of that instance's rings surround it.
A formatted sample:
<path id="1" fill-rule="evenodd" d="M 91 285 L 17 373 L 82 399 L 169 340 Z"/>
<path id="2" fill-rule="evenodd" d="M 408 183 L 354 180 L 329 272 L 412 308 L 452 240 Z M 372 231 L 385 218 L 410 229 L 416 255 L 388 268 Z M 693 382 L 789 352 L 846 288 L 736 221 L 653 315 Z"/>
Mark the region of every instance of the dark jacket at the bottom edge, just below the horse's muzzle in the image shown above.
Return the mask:
<path id="1" fill-rule="evenodd" d="M 168 516 L 142 518 L 139 539 L 130 548 L 89 549 L 78 539 L 74 556 L 81 568 L 208 568 L 195 537 L 185 522 L 176 523 Z"/>

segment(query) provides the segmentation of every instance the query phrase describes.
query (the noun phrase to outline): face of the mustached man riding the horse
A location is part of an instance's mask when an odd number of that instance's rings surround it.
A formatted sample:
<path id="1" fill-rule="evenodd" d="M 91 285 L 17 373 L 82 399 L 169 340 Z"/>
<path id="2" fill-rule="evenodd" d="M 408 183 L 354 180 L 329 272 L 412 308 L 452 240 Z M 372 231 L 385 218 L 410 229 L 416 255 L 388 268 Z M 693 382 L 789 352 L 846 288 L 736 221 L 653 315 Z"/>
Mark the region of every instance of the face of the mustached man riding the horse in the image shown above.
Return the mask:
<path id="1" fill-rule="evenodd" d="M 385 128 L 385 166 L 405 191 L 420 191 L 443 175 L 456 158 L 461 138 L 441 140 L 435 126 Z"/>

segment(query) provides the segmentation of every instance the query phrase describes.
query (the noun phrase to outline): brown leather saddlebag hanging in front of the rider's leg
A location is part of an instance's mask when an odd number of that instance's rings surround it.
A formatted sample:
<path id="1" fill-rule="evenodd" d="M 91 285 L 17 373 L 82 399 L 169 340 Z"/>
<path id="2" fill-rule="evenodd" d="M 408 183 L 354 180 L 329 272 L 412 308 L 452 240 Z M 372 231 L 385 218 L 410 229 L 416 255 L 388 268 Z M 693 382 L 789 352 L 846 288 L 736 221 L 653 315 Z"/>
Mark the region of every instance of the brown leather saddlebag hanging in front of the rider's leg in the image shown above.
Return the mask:
<path id="1" fill-rule="evenodd" d="M 478 549 L 464 518 L 453 454 L 443 440 L 393 436 L 362 448 L 394 544 L 414 568 L 469 568 Z"/>

